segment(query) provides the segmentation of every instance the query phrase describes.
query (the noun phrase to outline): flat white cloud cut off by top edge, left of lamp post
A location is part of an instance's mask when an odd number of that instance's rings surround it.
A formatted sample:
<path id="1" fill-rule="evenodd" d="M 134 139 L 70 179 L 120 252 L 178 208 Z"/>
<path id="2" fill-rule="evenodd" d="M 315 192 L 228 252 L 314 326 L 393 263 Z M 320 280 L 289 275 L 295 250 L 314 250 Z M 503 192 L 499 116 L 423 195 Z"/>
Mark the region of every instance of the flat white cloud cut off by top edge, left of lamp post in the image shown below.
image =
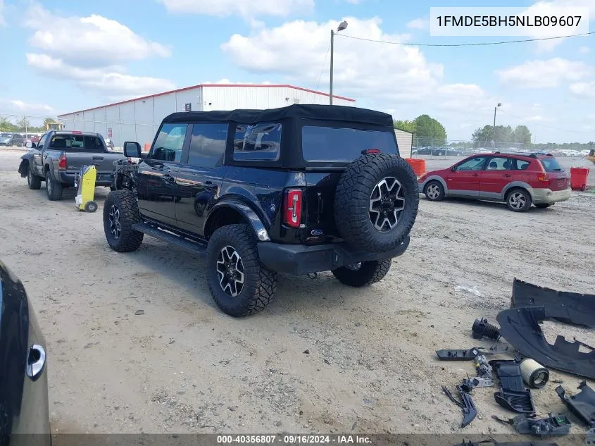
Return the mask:
<path id="1" fill-rule="evenodd" d="M 194 13 L 206 16 L 277 16 L 313 10 L 314 0 L 157 0 L 171 13 Z"/>

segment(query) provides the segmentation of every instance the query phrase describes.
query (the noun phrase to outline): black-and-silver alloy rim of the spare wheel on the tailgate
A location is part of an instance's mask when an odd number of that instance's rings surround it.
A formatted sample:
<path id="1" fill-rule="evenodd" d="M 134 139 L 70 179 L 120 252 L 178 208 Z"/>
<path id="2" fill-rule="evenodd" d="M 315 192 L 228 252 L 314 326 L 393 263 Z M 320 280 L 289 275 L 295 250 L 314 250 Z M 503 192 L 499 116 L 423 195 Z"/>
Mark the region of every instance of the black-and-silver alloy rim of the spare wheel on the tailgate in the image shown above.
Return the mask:
<path id="1" fill-rule="evenodd" d="M 401 183 L 394 177 L 382 178 L 370 194 L 370 221 L 381 233 L 392 230 L 399 223 L 405 209 L 405 195 Z"/>

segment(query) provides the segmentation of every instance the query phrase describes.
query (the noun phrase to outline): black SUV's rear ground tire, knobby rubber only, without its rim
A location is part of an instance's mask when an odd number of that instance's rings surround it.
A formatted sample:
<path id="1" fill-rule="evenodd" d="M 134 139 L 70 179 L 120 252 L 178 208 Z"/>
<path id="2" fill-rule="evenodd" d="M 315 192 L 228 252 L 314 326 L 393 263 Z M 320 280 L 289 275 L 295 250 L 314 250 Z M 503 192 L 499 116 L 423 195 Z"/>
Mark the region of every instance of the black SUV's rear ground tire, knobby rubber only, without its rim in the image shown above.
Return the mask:
<path id="1" fill-rule="evenodd" d="M 223 291 L 217 272 L 218 256 L 226 246 L 237 252 L 244 267 L 244 285 L 236 297 Z M 215 230 L 208 240 L 206 262 L 208 289 L 223 312 L 234 317 L 249 316 L 273 301 L 277 291 L 277 273 L 261 264 L 256 237 L 249 225 L 225 225 Z"/>

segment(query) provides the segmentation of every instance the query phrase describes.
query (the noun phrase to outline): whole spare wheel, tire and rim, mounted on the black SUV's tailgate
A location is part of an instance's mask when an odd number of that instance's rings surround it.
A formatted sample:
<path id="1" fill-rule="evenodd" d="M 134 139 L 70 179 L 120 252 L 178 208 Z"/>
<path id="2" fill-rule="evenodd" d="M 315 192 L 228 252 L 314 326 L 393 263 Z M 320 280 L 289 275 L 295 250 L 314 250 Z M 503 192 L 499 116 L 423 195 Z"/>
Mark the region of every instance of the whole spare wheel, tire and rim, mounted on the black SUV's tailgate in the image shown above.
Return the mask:
<path id="1" fill-rule="evenodd" d="M 419 202 L 418 181 L 405 159 L 367 154 L 353 161 L 339 178 L 334 220 L 354 249 L 390 251 L 411 231 Z"/>

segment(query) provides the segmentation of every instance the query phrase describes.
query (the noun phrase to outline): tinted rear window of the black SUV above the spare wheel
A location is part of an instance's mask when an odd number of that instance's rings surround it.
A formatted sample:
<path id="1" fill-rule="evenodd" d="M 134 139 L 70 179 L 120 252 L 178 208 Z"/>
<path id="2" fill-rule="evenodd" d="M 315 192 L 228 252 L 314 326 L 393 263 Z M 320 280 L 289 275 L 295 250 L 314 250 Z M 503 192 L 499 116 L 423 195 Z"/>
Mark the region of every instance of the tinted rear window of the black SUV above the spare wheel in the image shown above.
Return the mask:
<path id="1" fill-rule="evenodd" d="M 384 130 L 358 130 L 304 126 L 301 146 L 305 161 L 351 163 L 366 149 L 380 149 L 383 153 L 396 154 L 394 132 Z"/>

